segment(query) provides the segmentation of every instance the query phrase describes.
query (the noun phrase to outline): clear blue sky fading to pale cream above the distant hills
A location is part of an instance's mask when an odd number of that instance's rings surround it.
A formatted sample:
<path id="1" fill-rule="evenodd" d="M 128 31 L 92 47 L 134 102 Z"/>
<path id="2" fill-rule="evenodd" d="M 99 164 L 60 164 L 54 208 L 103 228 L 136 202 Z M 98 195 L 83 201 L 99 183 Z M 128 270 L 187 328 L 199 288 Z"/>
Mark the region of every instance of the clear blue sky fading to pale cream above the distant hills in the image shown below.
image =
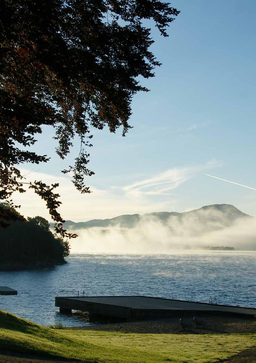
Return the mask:
<path id="1" fill-rule="evenodd" d="M 256 215 L 256 191 L 211 178 L 213 175 L 256 188 L 255 16 L 254 0 L 173 1 L 181 10 L 168 38 L 154 24 L 151 50 L 162 63 L 156 77 L 141 84 L 150 92 L 133 98 L 127 136 L 92 130 L 86 178 L 90 195 L 80 195 L 60 170 L 73 163 L 55 154 L 53 130 L 45 128 L 34 150 L 47 164 L 24 164 L 28 180 L 59 182 L 66 220 L 106 219 L 122 214 L 184 212 L 210 204 L 233 204 Z M 50 220 L 33 192 L 15 195 L 25 216 Z"/>

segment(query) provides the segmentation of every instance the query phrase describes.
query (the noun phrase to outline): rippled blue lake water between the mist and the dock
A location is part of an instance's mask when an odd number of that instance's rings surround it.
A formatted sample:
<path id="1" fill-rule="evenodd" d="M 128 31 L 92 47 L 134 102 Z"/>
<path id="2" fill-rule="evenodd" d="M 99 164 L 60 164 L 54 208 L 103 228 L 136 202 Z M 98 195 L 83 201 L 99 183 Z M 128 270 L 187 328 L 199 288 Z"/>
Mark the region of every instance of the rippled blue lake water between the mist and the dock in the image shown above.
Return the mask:
<path id="1" fill-rule="evenodd" d="M 169 255 L 71 254 L 56 268 L 0 272 L 0 309 L 43 325 L 90 324 L 87 313 L 60 314 L 55 296 L 148 295 L 256 307 L 256 251 Z"/>

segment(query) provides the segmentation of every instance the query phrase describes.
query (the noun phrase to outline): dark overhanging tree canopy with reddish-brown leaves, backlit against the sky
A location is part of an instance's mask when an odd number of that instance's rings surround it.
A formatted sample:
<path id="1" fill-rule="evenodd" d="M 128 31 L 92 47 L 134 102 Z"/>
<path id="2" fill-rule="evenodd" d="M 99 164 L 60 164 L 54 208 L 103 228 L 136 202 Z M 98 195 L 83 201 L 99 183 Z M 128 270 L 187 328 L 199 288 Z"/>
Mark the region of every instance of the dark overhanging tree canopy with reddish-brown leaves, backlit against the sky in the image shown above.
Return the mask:
<path id="1" fill-rule="evenodd" d="M 8 214 L 0 208 L 0 226 L 7 227 L 12 193 L 25 192 L 17 166 L 49 160 L 29 151 L 43 125 L 55 128 L 62 159 L 79 136 L 79 155 L 62 172 L 72 172 L 75 187 L 90 193 L 84 184 L 84 176 L 94 174 L 85 149 L 92 146 L 90 126 L 107 125 L 110 132 L 122 126 L 125 136 L 132 96 L 148 91 L 137 77 L 153 77 L 160 65 L 142 21 L 153 19 L 167 37 L 179 11 L 157 0 L 4 0 L 0 10 L 0 200 L 10 205 Z M 46 201 L 57 231 L 71 237 L 61 228 L 58 184 L 28 184 Z"/>

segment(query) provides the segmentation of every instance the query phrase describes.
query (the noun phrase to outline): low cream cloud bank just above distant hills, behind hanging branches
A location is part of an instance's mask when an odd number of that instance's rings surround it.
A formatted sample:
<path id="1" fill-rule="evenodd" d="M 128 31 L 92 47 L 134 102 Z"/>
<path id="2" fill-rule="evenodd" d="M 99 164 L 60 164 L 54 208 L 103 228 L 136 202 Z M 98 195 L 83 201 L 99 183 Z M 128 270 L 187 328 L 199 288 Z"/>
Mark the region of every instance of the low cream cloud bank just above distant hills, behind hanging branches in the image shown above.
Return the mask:
<path id="1" fill-rule="evenodd" d="M 25 175 L 28 170 L 22 169 Z M 59 183 L 56 193 L 60 195 L 59 200 L 62 204 L 58 208 L 64 219 L 70 219 L 75 222 L 87 221 L 90 219 L 113 218 L 122 214 L 143 214 L 152 211 L 167 210 L 170 205 L 174 205 L 172 200 L 154 200 L 150 198 L 131 196 L 124 192 L 120 185 L 111 185 L 108 183 L 107 188 L 103 189 L 93 184 L 95 179 L 88 180 L 88 185 L 92 193 L 80 194 L 74 187 L 71 178 L 60 175 L 50 175 L 38 171 L 31 171 L 26 181 L 42 180 L 46 184 Z M 123 180 L 120 180 L 120 183 Z M 101 180 L 102 183 L 102 180 Z M 106 183 L 107 184 L 107 183 Z M 26 193 L 14 193 L 13 201 L 15 204 L 21 204 L 20 213 L 24 216 L 40 215 L 48 220 L 51 219 L 45 202 L 36 195 L 32 189 Z"/>

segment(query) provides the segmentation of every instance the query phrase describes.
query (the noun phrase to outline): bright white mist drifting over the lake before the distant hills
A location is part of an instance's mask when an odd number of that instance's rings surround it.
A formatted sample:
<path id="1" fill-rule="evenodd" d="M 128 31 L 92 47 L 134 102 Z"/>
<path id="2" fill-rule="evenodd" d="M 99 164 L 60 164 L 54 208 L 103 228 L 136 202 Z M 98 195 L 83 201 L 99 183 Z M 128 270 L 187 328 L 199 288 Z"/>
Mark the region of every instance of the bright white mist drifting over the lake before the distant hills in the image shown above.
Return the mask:
<path id="1" fill-rule="evenodd" d="M 133 228 L 112 225 L 76 230 L 71 253 L 172 253 L 200 250 L 206 246 L 231 246 L 236 250 L 256 250 L 253 217 L 231 220 L 222 211 L 202 210 L 170 216 L 165 221 L 143 215 Z"/>

